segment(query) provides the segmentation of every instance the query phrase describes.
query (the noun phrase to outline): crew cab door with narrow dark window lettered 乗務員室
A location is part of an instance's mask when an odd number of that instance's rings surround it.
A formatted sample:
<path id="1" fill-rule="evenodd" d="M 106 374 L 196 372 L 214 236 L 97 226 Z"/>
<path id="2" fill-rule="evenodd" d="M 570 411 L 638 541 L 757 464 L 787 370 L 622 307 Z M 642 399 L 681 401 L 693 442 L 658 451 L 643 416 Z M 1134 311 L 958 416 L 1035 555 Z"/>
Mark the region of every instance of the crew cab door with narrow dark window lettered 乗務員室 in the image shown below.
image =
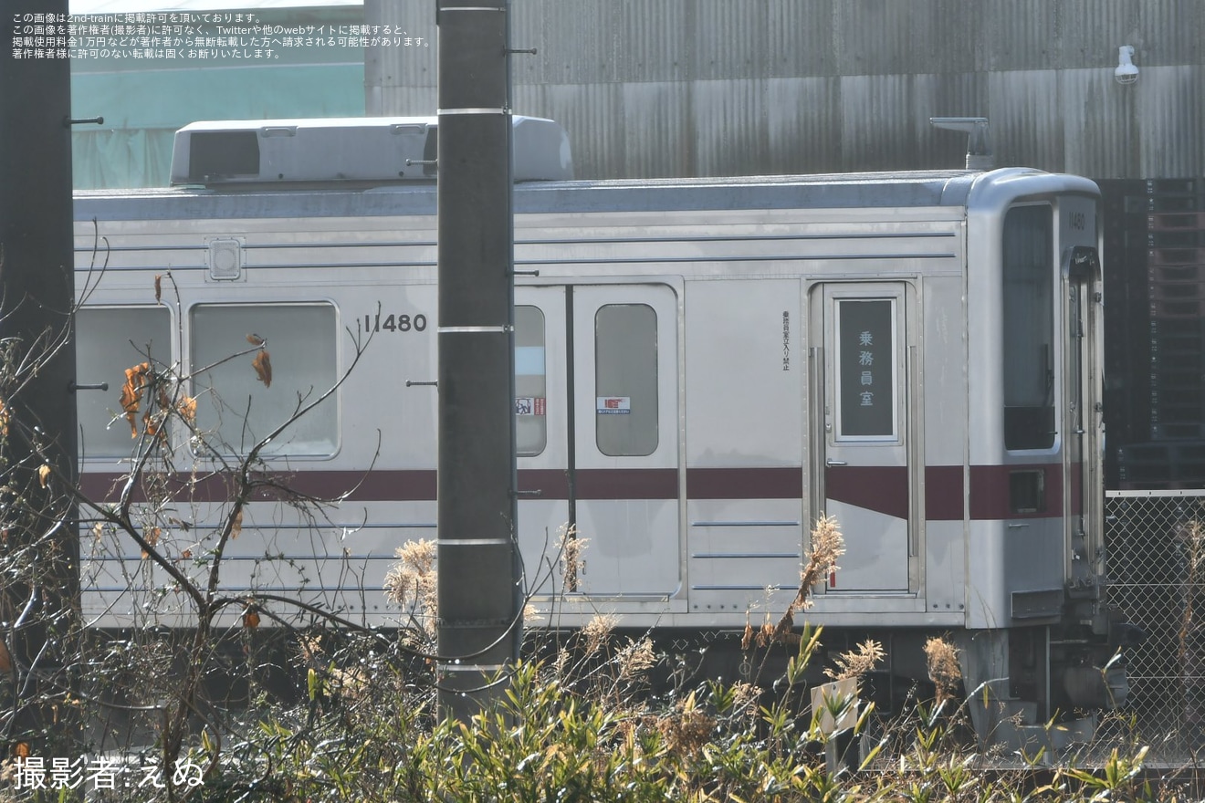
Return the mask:
<path id="1" fill-rule="evenodd" d="M 813 299 L 823 350 L 819 501 L 845 537 L 827 590 L 907 591 L 917 483 L 906 285 L 833 283 Z"/>

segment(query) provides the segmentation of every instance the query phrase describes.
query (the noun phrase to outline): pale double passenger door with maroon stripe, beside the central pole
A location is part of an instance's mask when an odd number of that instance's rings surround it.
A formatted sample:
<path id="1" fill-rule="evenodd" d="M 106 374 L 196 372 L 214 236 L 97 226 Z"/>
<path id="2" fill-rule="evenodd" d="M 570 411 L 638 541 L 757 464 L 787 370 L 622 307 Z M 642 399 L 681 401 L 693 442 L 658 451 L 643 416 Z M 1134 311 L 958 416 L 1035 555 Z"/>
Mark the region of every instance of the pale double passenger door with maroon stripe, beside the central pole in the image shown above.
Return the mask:
<path id="1" fill-rule="evenodd" d="M 659 284 L 517 288 L 522 308 L 546 326 L 547 395 L 528 402 L 517 353 L 519 431 L 542 412 L 540 454 L 521 443 L 521 547 L 527 565 L 560 566 L 553 519 L 584 539 L 583 568 L 558 590 L 600 596 L 665 596 L 680 586 L 677 297 Z M 534 391 L 533 391 L 534 392 Z M 539 494 L 536 496 L 535 494 Z M 553 503 L 557 497 L 562 503 Z M 547 547 L 545 545 L 547 543 Z"/>

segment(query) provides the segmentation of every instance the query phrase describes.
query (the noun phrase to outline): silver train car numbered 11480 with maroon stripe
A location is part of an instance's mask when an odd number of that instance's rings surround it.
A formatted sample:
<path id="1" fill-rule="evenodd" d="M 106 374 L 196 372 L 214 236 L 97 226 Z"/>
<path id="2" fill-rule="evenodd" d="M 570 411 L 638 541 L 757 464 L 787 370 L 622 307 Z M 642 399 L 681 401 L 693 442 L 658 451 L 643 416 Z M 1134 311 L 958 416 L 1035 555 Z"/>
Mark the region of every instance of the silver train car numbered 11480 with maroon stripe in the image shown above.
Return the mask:
<path id="1" fill-rule="evenodd" d="M 371 335 L 268 449 L 293 486 L 343 501 L 322 527 L 254 502 L 231 594 L 398 624 L 394 551 L 436 532 L 434 135 L 189 126 L 178 187 L 76 197 L 78 383 L 110 386 L 78 394 L 95 498 L 129 459 L 123 370 L 148 354 L 192 376 L 199 426 L 236 453 Z M 921 638 L 951 633 L 968 687 L 1030 721 L 1107 704 L 1097 187 L 1022 169 L 571 181 L 566 142 L 516 118 L 518 477 L 539 491 L 517 535 L 543 624 L 776 619 L 823 513 L 846 551 L 809 621 L 887 633 L 899 677 L 924 677 Z M 249 358 L 222 361 L 252 332 L 270 386 Z M 212 467 L 167 437 L 177 465 Z M 180 501 L 164 549 L 202 555 L 222 502 Z M 586 539 L 569 585 L 566 526 Z M 83 543 L 90 621 L 171 624 L 183 603 L 133 544 Z"/>

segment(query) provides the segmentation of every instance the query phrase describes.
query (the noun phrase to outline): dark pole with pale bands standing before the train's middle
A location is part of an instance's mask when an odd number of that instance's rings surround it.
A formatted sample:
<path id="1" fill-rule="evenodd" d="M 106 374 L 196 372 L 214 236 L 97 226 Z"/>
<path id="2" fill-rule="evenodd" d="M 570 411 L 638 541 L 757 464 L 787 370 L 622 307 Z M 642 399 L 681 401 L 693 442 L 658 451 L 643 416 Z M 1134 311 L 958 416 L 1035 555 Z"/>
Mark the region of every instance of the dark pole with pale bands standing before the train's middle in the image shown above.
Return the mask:
<path id="1" fill-rule="evenodd" d="M 439 707 L 518 654 L 509 0 L 439 0 Z"/>

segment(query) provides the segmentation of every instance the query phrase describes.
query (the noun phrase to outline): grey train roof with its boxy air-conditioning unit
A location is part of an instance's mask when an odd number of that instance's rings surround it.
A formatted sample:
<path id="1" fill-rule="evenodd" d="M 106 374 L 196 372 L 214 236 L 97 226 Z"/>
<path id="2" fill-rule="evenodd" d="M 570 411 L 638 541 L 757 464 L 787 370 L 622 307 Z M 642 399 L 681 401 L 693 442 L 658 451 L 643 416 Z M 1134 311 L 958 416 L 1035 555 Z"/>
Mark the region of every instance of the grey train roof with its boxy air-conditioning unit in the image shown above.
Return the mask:
<path id="1" fill-rule="evenodd" d="M 1046 175 L 1006 169 L 574 181 L 569 136 L 558 123 L 511 116 L 511 125 L 519 214 L 966 207 L 976 187 Z M 76 217 L 434 215 L 437 132 L 437 117 L 193 123 L 176 132 L 175 188 L 81 191 Z M 1058 189 L 1094 191 L 1086 179 L 1065 178 Z M 1052 182 L 1058 179 L 1045 183 Z"/>

